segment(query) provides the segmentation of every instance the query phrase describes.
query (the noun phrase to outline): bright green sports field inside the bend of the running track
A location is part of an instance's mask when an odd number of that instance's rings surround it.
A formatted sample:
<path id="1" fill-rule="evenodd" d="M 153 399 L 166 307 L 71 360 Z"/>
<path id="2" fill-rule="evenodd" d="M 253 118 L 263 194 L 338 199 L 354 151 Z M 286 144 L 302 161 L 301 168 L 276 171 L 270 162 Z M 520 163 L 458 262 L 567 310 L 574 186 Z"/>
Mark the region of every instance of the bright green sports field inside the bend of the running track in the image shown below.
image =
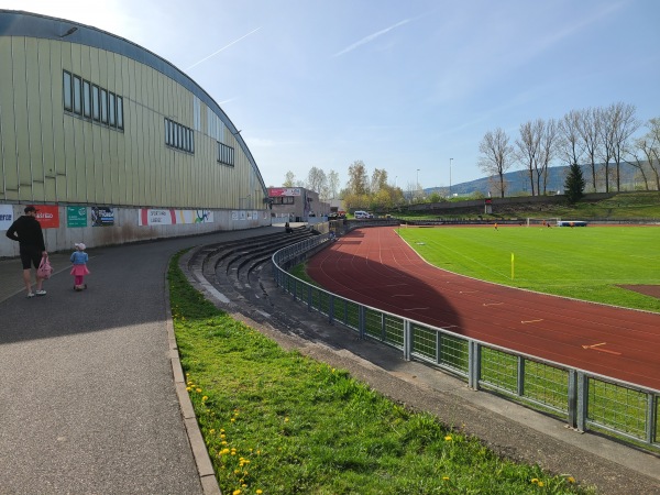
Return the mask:
<path id="1" fill-rule="evenodd" d="M 660 299 L 619 285 L 660 284 L 658 227 L 399 228 L 429 263 L 471 277 L 660 312 Z"/>

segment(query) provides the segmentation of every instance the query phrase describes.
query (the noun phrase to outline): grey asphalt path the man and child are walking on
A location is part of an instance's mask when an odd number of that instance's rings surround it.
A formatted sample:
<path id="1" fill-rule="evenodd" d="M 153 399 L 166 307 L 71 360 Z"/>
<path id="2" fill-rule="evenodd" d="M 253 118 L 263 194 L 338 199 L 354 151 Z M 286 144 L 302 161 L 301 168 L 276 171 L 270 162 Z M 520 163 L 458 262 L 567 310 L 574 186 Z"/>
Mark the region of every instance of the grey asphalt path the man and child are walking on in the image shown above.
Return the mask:
<path id="1" fill-rule="evenodd" d="M 204 493 L 173 380 L 167 263 L 274 229 L 89 250 L 87 290 L 61 264 L 31 299 L 20 262 L 2 261 L 0 493 Z"/>

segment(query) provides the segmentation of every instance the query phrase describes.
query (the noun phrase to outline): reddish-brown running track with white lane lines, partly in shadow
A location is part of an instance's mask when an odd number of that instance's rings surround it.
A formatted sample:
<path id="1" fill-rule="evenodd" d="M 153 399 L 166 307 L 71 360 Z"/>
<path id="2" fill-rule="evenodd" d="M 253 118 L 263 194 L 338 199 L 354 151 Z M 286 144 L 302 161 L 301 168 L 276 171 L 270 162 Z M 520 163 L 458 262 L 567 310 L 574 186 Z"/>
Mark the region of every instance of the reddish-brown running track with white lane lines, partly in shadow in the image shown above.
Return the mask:
<path id="1" fill-rule="evenodd" d="M 361 304 L 660 391 L 660 315 L 515 289 L 426 263 L 393 228 L 354 230 L 309 275 Z"/>

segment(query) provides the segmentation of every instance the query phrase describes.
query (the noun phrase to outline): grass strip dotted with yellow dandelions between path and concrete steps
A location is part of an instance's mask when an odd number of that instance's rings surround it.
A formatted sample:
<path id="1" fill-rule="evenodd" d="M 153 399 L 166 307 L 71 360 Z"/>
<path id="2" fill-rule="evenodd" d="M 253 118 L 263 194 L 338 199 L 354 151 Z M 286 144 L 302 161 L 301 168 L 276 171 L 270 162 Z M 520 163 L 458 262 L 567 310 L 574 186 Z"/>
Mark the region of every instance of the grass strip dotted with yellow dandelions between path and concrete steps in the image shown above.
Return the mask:
<path id="1" fill-rule="evenodd" d="M 284 351 L 205 300 L 177 260 L 177 344 L 224 494 L 593 493 Z"/>

